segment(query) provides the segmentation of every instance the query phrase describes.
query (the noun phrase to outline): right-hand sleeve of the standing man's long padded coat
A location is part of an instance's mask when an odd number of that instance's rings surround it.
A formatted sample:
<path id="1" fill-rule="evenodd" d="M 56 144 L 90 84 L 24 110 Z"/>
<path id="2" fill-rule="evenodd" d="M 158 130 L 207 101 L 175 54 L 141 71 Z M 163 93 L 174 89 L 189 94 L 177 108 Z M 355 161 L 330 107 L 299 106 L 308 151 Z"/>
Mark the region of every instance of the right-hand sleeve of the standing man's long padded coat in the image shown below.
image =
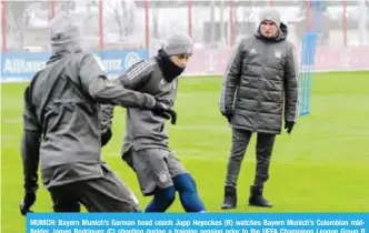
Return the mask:
<path id="1" fill-rule="evenodd" d="M 299 68 L 296 49 L 291 44 L 285 68 L 285 121 L 297 122 L 299 115 Z"/>

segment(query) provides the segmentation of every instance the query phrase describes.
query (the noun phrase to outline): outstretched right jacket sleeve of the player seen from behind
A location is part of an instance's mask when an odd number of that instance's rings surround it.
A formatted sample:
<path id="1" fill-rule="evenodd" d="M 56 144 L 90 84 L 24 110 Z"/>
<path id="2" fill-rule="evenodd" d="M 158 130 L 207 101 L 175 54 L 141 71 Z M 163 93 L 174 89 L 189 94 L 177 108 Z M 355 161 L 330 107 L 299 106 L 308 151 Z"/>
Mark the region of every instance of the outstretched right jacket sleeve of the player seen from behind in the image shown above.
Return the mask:
<path id="1" fill-rule="evenodd" d="M 83 89 L 101 104 L 151 110 L 156 105 L 152 95 L 126 89 L 120 82 L 110 83 L 98 60 L 88 54 L 80 64 L 79 77 Z"/>

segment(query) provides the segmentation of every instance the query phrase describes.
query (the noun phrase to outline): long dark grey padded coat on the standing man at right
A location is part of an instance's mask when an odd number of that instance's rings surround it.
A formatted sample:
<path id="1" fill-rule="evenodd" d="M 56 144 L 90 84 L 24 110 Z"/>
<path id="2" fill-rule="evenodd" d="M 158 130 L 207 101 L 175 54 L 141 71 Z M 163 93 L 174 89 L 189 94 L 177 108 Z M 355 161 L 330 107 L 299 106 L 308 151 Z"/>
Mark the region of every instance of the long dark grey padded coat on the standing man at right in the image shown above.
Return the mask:
<path id="1" fill-rule="evenodd" d="M 287 26 L 270 40 L 261 36 L 241 40 L 223 75 L 220 112 L 237 129 L 279 134 L 282 119 L 296 122 L 299 112 L 298 63 L 286 39 Z"/>

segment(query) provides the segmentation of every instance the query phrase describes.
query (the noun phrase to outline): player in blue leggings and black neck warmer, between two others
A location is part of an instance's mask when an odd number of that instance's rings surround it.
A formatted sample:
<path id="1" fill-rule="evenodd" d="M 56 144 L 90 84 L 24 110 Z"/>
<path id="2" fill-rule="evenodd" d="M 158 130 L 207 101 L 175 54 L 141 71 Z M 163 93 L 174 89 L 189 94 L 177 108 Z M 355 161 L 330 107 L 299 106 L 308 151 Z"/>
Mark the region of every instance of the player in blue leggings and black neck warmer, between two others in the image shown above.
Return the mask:
<path id="1" fill-rule="evenodd" d="M 192 40 L 188 36 L 173 34 L 154 58 L 134 64 L 118 81 L 127 89 L 150 93 L 172 107 L 177 78 L 191 53 Z M 108 129 L 111 128 L 112 113 L 111 107 L 103 108 L 103 125 Z M 153 195 L 146 212 L 167 211 L 174 201 L 176 191 L 187 212 L 203 212 L 195 180 L 169 149 L 166 118 L 151 111 L 128 109 L 122 159 L 136 172 L 142 194 Z"/>

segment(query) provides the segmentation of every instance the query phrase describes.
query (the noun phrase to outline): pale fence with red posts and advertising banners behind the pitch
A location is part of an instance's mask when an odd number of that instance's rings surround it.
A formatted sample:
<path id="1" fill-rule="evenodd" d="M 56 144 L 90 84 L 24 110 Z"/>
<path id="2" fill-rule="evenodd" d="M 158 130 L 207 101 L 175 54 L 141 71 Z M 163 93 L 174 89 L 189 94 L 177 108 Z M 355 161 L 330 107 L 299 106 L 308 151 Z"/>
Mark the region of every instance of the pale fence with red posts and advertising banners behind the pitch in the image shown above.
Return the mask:
<path id="1" fill-rule="evenodd" d="M 58 12 L 78 16 L 86 50 L 109 74 L 153 55 L 168 33 L 187 32 L 196 53 L 188 74 L 221 74 L 231 47 L 251 36 L 258 13 L 276 7 L 298 48 L 318 34 L 316 70 L 369 70 L 369 0 L 90 0 L 1 1 L 1 78 L 28 79 L 49 55 L 48 22 Z"/>

